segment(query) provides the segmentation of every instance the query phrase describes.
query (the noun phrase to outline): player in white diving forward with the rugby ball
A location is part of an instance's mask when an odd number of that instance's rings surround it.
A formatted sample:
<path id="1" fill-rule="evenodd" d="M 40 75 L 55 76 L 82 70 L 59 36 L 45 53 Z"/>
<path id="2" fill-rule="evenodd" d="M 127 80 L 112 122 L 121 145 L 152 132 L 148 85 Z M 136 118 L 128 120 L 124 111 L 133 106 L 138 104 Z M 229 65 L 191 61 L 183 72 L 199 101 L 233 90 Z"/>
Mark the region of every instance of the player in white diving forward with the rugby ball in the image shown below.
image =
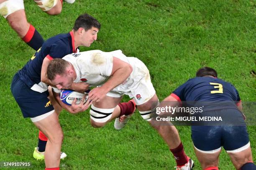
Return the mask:
<path id="1" fill-rule="evenodd" d="M 92 50 L 66 55 L 52 60 L 47 68 L 47 76 L 54 88 L 56 100 L 66 110 L 78 112 L 81 106 L 68 106 L 60 101 L 61 89 L 69 89 L 73 82 L 85 82 L 96 86 L 89 92 L 90 122 L 95 128 L 106 125 L 115 119 L 115 129 L 120 130 L 131 115 L 120 115 L 120 102 L 123 95 L 135 100 L 137 109 L 144 120 L 154 127 L 172 151 L 180 170 L 191 170 L 193 161 L 184 153 L 177 129 L 166 122 L 156 125 L 153 112 L 159 105 L 156 91 L 151 83 L 149 71 L 141 60 L 126 57 L 121 50 L 102 52 Z"/>

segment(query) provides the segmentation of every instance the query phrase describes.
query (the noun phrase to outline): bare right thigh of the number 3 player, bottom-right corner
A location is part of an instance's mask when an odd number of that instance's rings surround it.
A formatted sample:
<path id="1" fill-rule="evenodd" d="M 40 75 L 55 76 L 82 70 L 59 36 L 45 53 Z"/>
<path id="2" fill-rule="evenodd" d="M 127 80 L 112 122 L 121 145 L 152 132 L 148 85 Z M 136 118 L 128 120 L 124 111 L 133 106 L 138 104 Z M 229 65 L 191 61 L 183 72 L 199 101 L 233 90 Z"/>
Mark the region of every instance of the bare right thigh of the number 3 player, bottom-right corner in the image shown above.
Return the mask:
<path id="1" fill-rule="evenodd" d="M 233 163 L 233 165 L 236 167 L 236 169 L 241 168 L 246 163 L 253 162 L 252 153 L 251 153 L 251 147 L 248 148 L 245 146 L 245 150 L 242 150 L 240 152 L 228 152 L 228 155 L 230 156 L 230 159 Z"/>

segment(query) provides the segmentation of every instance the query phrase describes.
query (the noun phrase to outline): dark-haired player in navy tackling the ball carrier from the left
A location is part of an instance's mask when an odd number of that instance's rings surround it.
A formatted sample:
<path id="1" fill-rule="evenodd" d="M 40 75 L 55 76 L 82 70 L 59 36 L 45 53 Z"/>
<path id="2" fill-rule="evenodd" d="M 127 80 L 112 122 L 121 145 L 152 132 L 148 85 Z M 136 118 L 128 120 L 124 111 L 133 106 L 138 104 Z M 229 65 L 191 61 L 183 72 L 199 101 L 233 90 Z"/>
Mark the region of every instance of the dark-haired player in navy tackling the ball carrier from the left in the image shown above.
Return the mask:
<path id="1" fill-rule="evenodd" d="M 61 143 L 63 132 L 59 124 L 60 106 L 52 97 L 51 85 L 46 70 L 49 62 L 54 58 L 62 58 L 72 52 L 77 52 L 79 46 L 89 47 L 97 39 L 100 23 L 88 14 L 80 15 L 74 23 L 72 31 L 49 38 L 42 47 L 31 57 L 31 60 L 13 77 L 11 91 L 18 103 L 23 117 L 30 117 L 39 131 L 38 148 L 33 156 L 45 159 L 46 169 L 59 169 Z M 84 82 L 73 83 L 72 90 L 86 90 Z M 76 107 L 82 112 L 89 107 Z M 55 108 L 55 110 L 54 110 Z M 45 135 L 44 135 L 45 134 Z M 47 136 L 47 137 L 46 137 Z M 44 153 L 45 151 L 45 153 Z"/>

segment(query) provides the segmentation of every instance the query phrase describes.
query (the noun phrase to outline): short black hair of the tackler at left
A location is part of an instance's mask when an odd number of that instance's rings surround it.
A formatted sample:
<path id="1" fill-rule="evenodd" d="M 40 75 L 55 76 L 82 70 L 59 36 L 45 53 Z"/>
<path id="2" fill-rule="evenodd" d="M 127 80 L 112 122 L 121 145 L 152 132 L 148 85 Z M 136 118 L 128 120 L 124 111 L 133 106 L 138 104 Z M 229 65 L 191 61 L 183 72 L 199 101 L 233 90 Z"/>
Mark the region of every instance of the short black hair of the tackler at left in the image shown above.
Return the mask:
<path id="1" fill-rule="evenodd" d="M 80 15 L 74 23 L 73 29 L 77 31 L 79 28 L 84 28 L 85 31 L 90 30 L 92 27 L 100 30 L 100 23 L 89 14 Z"/>

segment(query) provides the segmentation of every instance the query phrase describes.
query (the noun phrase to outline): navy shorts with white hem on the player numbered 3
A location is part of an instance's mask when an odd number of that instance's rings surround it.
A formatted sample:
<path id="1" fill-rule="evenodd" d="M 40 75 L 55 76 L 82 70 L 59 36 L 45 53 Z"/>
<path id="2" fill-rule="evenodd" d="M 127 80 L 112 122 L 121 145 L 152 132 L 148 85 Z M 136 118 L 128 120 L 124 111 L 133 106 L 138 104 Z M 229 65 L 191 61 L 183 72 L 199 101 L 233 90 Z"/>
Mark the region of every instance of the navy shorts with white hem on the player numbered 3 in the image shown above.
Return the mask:
<path id="1" fill-rule="evenodd" d="M 228 110 L 230 113 L 230 109 Z M 227 109 L 218 110 L 217 112 L 220 115 L 225 114 Z M 237 120 L 241 121 L 241 112 L 236 109 L 231 109 L 231 112 L 233 113 L 232 120 L 237 117 Z M 222 146 L 227 152 L 235 152 L 234 150 L 239 152 L 244 147 L 250 146 L 245 123 L 241 126 L 225 124 L 221 126 L 191 126 L 191 130 L 195 148 L 203 153 L 218 152 Z"/>

